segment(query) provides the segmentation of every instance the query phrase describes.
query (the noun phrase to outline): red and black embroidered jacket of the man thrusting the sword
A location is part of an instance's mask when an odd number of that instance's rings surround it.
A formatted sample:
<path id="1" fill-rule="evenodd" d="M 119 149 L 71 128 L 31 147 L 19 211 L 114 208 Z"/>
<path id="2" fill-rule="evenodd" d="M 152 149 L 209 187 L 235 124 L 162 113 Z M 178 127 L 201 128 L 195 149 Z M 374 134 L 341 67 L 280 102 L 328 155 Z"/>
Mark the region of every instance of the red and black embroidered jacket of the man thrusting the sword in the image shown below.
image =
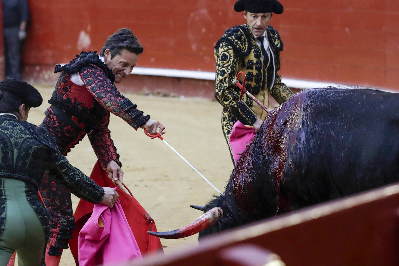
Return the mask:
<path id="1" fill-rule="evenodd" d="M 56 138 L 56 144 L 66 155 L 87 134 L 97 158 L 104 167 L 109 161 L 119 162 L 119 155 L 108 129 L 110 112 L 137 130 L 150 116 L 136 109 L 137 105 L 119 93 L 112 71 L 96 52 L 82 52 L 71 63 L 57 65 L 61 72 L 57 85 L 40 126 L 46 127 Z M 84 86 L 69 77 L 79 73 Z"/>

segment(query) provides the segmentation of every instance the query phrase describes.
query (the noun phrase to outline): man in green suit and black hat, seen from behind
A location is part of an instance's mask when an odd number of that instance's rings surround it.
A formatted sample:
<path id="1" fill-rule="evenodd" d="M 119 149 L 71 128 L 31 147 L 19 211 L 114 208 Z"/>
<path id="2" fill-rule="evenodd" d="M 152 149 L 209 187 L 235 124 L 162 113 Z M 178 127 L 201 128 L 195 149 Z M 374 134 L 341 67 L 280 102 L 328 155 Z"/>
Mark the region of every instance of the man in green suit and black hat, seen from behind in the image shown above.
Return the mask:
<path id="1" fill-rule="evenodd" d="M 92 203 L 113 207 L 118 197 L 114 189 L 100 187 L 71 166 L 47 130 L 26 122 L 29 109 L 42 101 L 26 82 L 0 82 L 0 265 L 14 251 L 21 266 L 44 261 L 49 217 L 38 188 L 45 172 Z"/>

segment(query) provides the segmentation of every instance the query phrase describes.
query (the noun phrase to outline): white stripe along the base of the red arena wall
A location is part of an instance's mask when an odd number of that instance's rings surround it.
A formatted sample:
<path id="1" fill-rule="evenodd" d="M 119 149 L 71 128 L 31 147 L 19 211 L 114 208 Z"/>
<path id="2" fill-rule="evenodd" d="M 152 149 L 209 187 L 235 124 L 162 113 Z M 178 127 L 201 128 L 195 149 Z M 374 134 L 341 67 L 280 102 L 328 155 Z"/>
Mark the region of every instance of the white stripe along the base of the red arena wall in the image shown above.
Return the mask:
<path id="1" fill-rule="evenodd" d="M 176 77 L 176 78 L 187 78 L 187 79 L 203 79 L 203 80 L 215 80 L 215 72 L 206 71 L 192 71 L 192 70 L 180 70 L 180 69 L 162 69 L 162 68 L 150 68 L 150 67 L 134 67 L 130 74 L 134 75 L 148 75 L 148 76 L 163 76 L 163 77 Z M 282 78 L 281 81 L 288 87 L 296 89 L 312 89 L 322 88 L 328 86 L 334 87 L 347 87 L 349 85 L 318 82 L 318 81 L 305 81 L 300 79 L 286 79 Z"/>

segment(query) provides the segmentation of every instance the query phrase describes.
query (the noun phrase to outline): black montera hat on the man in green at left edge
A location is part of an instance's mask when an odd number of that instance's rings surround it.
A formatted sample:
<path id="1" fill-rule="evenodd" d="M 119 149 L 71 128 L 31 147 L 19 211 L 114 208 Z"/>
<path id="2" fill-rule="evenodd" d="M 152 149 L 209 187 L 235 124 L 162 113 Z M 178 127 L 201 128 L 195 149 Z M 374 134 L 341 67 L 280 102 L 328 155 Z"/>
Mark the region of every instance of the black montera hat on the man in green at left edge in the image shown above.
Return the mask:
<path id="1" fill-rule="evenodd" d="M 4 79 L 0 81 L 0 91 L 7 91 L 16 95 L 29 107 L 38 107 L 43 102 L 43 98 L 41 98 L 37 89 L 19 79 Z"/>

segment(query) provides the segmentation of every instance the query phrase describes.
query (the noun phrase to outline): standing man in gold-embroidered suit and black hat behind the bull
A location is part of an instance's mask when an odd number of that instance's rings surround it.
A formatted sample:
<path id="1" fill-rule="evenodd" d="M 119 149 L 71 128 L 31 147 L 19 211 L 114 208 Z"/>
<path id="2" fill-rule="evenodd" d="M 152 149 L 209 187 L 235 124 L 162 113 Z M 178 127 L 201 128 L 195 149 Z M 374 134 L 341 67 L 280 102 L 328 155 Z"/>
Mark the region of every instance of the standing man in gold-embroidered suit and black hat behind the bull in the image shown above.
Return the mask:
<path id="1" fill-rule="evenodd" d="M 279 104 L 293 95 L 277 73 L 283 43 L 277 30 L 269 26 L 272 12 L 282 13 L 282 4 L 277 0 L 238 0 L 234 10 L 244 11 L 247 24 L 226 30 L 215 45 L 215 98 L 223 106 L 222 130 L 233 164 L 229 139 L 235 123 L 253 126 L 256 132 L 267 114 L 245 93 L 239 100 L 240 89 L 233 84 L 237 73 L 247 75 L 245 88 L 266 107 L 268 93 Z"/>

